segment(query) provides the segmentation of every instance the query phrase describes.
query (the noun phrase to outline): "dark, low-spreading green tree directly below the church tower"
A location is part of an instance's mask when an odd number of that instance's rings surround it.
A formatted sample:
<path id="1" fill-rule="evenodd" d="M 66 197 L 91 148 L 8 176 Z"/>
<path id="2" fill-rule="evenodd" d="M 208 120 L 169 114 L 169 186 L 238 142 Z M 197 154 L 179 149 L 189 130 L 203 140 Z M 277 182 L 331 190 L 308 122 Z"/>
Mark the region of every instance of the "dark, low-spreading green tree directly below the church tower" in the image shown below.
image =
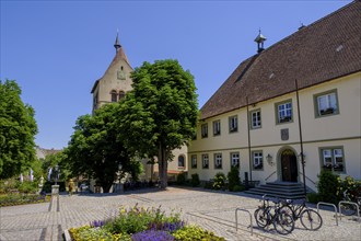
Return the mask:
<path id="1" fill-rule="evenodd" d="M 117 138 L 117 105 L 107 104 L 96 110 L 94 115 L 80 116 L 65 149 L 66 168 L 71 174 L 88 174 L 100 183 L 105 193 L 109 192 L 118 171 L 132 176 L 140 171 L 140 163 L 130 158 L 121 139 Z"/>

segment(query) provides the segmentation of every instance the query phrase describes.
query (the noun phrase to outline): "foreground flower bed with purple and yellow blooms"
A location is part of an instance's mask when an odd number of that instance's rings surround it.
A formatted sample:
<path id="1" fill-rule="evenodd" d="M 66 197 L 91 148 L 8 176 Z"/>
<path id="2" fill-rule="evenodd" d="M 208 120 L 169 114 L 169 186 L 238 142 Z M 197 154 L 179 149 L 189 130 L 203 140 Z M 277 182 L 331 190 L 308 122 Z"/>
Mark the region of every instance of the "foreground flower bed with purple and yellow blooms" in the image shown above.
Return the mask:
<path id="1" fill-rule="evenodd" d="M 180 220 L 179 213 L 168 216 L 161 208 L 120 208 L 119 215 L 109 220 L 96 220 L 89 226 L 69 229 L 73 241 L 124 240 L 124 241 L 172 241 L 211 240 L 222 241 L 200 227 L 188 226 Z"/>

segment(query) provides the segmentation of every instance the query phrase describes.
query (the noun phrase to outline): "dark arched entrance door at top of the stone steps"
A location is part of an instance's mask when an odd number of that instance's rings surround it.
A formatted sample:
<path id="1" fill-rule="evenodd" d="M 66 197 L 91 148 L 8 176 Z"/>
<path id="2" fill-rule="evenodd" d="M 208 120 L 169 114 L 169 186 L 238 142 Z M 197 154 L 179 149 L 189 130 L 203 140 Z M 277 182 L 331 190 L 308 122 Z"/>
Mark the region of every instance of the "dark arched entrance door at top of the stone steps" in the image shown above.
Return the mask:
<path id="1" fill-rule="evenodd" d="M 298 182 L 298 162 L 294 152 L 290 149 L 281 153 L 281 169 L 283 182 Z"/>

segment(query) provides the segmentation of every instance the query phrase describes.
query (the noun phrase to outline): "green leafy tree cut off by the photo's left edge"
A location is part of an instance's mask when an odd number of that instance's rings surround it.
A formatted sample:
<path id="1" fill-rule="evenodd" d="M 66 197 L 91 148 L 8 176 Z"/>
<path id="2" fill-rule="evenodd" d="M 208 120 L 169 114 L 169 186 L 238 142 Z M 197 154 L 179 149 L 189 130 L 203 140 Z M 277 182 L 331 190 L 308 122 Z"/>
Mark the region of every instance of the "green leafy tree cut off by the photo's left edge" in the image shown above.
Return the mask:
<path id="1" fill-rule="evenodd" d="M 0 179 L 20 174 L 35 160 L 34 110 L 20 95 L 14 80 L 0 80 Z"/>

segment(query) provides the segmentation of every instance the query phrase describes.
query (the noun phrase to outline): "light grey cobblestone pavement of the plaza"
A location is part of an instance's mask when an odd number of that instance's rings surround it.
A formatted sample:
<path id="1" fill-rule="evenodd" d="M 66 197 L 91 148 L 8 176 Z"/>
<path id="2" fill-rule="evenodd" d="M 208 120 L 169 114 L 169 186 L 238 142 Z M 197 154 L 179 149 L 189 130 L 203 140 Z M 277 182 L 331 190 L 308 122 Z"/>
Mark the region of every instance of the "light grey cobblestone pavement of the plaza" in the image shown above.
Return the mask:
<path id="1" fill-rule="evenodd" d="M 93 220 L 114 217 L 120 206 L 159 207 L 166 213 L 180 211 L 189 223 L 197 223 L 226 240 L 361 240 L 361 222 L 342 217 L 336 225 L 333 211 L 321 210 L 324 220 L 318 231 L 305 230 L 300 221 L 288 236 L 275 230 L 260 230 L 249 211 L 259 205 L 258 198 L 242 193 L 212 192 L 202 188 L 168 187 L 167 191 L 147 190 L 125 194 L 80 194 L 55 196 L 50 203 L 0 208 L 0 240 L 61 240 L 63 230 Z M 235 209 L 238 229 L 235 229 Z"/>

